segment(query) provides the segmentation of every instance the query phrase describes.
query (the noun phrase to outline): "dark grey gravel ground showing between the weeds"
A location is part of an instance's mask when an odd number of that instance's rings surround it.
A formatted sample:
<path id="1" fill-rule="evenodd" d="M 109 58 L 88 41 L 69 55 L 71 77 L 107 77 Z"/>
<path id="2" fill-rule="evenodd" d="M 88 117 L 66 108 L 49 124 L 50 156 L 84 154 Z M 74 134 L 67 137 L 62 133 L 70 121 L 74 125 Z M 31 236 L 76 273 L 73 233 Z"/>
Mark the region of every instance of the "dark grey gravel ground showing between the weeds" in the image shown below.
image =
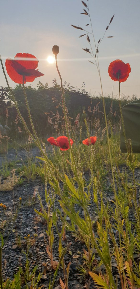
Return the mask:
<path id="1" fill-rule="evenodd" d="M 22 160 L 26 160 L 27 155 L 26 151 L 18 151 L 19 155 L 22 157 Z M 39 155 L 39 150 L 37 148 L 32 149 L 33 156 Z M 9 150 L 7 159 L 8 160 L 15 160 L 15 152 L 14 150 Z M 2 156 L 0 155 L 0 162 L 3 160 Z M 139 169 L 136 170 L 136 179 L 139 181 L 140 177 L 140 171 Z M 85 179 L 89 179 L 89 175 L 85 174 Z M 108 181 L 109 182 L 109 181 Z M 27 236 L 30 234 L 30 237 L 33 237 L 33 234 L 37 233 L 38 237 L 36 238 L 36 242 L 34 246 L 30 248 L 30 256 L 31 256 L 31 265 L 34 263 L 35 265 L 39 265 L 39 268 L 37 272 L 43 272 L 43 276 L 41 278 L 40 285 L 43 285 L 43 288 L 48 288 L 49 286 L 49 280 L 53 278 L 53 272 L 50 266 L 50 260 L 46 253 L 46 247 L 48 244 L 47 240 L 47 234 L 46 229 L 47 226 L 44 224 L 44 221 L 37 217 L 37 214 L 34 212 L 34 208 L 37 210 L 40 210 L 40 202 L 38 197 L 36 196 L 36 203 L 32 206 L 28 205 L 29 197 L 32 198 L 34 194 L 34 189 L 37 188 L 39 190 L 39 194 L 42 199 L 42 203 L 44 207 L 46 207 L 45 202 L 45 190 L 44 185 L 41 183 L 39 179 L 36 179 L 35 181 L 24 182 L 22 186 L 18 186 L 14 188 L 14 192 L 0 192 L 1 193 L 1 199 L 0 203 L 4 203 L 7 206 L 5 219 L 9 220 L 11 217 L 11 212 L 14 211 L 14 206 L 16 206 L 19 203 L 19 197 L 22 197 L 22 207 L 18 213 L 18 217 L 16 219 L 16 222 L 14 223 L 14 226 L 12 227 L 12 230 L 9 234 L 9 237 L 5 243 L 5 246 L 3 248 L 3 277 L 6 279 L 7 277 L 13 278 L 14 273 L 18 271 L 18 266 L 25 265 L 25 255 L 22 250 L 27 249 L 26 246 L 26 240 L 24 239 L 24 236 Z M 49 188 L 49 185 L 48 185 Z M 106 192 L 104 198 L 104 204 L 106 206 L 107 201 L 112 205 L 112 193 Z M 140 195 L 138 192 L 138 199 Z M 55 207 L 59 208 L 61 210 L 59 201 L 55 200 Z M 75 206 L 76 210 L 80 212 L 80 216 L 84 217 L 83 210 Z M 47 208 L 47 207 L 46 207 Z M 89 213 L 91 216 L 95 216 L 95 204 L 93 203 L 91 199 L 91 205 L 89 206 Z M 133 210 L 130 210 L 130 216 L 132 218 L 132 221 L 135 223 L 135 216 L 133 214 Z M 3 210 L 1 210 L 0 213 L 0 219 L 3 218 Z M 67 221 L 69 222 L 70 219 L 67 218 Z M 62 221 L 59 219 L 58 221 L 58 229 L 61 231 L 62 227 Z M 14 229 L 14 230 L 13 230 Z M 58 261 L 58 235 L 55 227 L 53 227 L 54 230 L 54 243 L 53 243 L 53 260 Z M 95 237 L 97 237 L 96 232 L 96 226 L 93 228 Z M 8 236 L 9 229 L 5 232 L 4 238 Z M 116 242 L 118 242 L 118 232 L 114 231 Z M 16 238 L 17 236 L 20 237 L 21 241 L 21 247 L 18 246 Z M 45 241 L 46 240 L 46 241 Z M 85 248 L 85 245 L 79 241 L 75 240 L 75 236 L 72 232 L 66 231 L 66 240 L 63 241 L 63 247 L 66 247 L 70 242 L 72 242 L 68 252 L 66 253 L 64 260 L 66 266 L 69 262 L 71 262 L 70 265 L 70 276 L 69 276 L 69 289 L 84 289 L 85 284 L 89 282 L 89 289 L 96 288 L 94 286 L 93 280 L 89 276 L 81 276 L 78 271 L 78 266 L 84 263 L 83 260 L 83 248 Z M 85 248 L 86 249 L 86 248 Z M 136 256 L 136 259 L 139 261 L 140 257 L 139 254 Z M 97 254 L 95 250 L 95 263 L 98 263 L 100 261 L 100 257 Z M 118 288 L 120 287 L 120 279 L 119 275 L 116 271 L 116 260 L 112 260 L 112 271 L 114 278 L 116 276 L 118 277 Z M 101 272 L 104 273 L 104 266 L 101 266 Z M 99 269 L 97 269 L 97 273 L 99 272 Z M 55 280 L 54 288 L 59 288 L 59 279 L 62 279 L 64 281 L 64 274 L 63 270 L 60 268 L 58 271 L 58 275 Z M 23 287 L 24 288 L 24 287 Z M 30 286 L 29 286 L 30 288 Z"/>

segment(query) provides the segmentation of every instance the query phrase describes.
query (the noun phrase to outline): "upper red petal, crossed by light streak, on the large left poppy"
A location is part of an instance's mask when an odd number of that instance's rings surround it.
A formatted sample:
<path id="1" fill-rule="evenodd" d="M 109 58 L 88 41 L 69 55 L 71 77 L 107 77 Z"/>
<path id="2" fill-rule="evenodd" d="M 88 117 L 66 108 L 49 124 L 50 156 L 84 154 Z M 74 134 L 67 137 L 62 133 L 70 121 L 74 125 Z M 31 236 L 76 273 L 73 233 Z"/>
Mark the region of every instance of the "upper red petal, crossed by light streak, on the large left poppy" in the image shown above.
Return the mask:
<path id="1" fill-rule="evenodd" d="M 24 60 L 18 60 L 16 58 L 24 58 Z M 25 58 L 27 60 L 25 60 Z M 39 63 L 38 59 L 30 53 L 17 53 L 14 59 L 26 69 L 36 69 Z"/>

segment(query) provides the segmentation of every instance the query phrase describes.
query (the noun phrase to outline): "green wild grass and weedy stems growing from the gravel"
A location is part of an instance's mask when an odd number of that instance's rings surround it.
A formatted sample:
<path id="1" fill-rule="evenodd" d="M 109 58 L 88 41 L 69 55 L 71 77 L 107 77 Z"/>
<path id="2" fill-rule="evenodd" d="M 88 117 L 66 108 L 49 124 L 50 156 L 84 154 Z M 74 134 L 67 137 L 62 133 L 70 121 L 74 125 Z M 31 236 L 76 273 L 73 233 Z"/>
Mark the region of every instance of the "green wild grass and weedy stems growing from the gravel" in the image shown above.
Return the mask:
<path id="1" fill-rule="evenodd" d="M 84 51 L 90 53 L 93 57 L 101 82 L 98 47 L 103 38 L 100 38 L 96 45 L 89 13 L 89 1 L 86 3 L 82 1 L 82 3 L 85 6 L 83 14 L 89 17 L 91 25 L 91 32 L 86 31 L 87 41 L 91 48 L 86 48 Z M 106 30 L 108 30 L 113 18 L 114 16 L 112 16 Z M 85 29 L 79 26 L 72 26 L 85 31 Z M 89 36 L 90 38 L 92 37 L 92 40 L 89 39 Z M 91 41 L 93 42 L 92 44 Z M 92 45 L 94 45 L 94 49 Z M 65 254 L 67 251 L 71 254 L 71 243 L 65 243 L 67 230 L 71 231 L 74 236 L 84 244 L 84 262 L 80 266 L 79 271 L 86 279 L 89 279 L 89 276 L 91 276 L 97 288 L 139 288 L 140 262 L 139 259 L 137 262 L 135 261 L 135 253 L 139 254 L 140 252 L 140 210 L 138 195 L 140 184 L 136 180 L 135 174 L 140 166 L 140 157 L 137 154 L 133 154 L 131 148 L 129 149 L 129 154 L 122 154 L 120 152 L 120 140 L 117 133 L 120 123 L 119 121 L 118 123 L 114 122 L 116 115 L 112 112 L 112 107 L 110 108 L 108 116 L 106 116 L 103 93 L 101 96 L 104 109 L 102 112 L 102 121 L 97 117 L 97 114 L 100 112 L 98 104 L 93 110 L 91 110 L 91 107 L 88 107 L 88 117 L 84 105 L 83 113 L 80 115 L 78 112 L 75 123 L 74 125 L 72 124 L 66 107 L 62 78 L 57 64 L 58 50 L 57 45 L 53 47 L 56 69 L 61 82 L 62 101 L 60 106 L 63 115 L 62 130 L 60 128 L 60 118 L 58 114 L 55 115 L 55 117 L 57 117 L 56 123 L 53 123 L 51 119 L 49 119 L 49 123 L 50 125 L 53 124 L 57 134 L 65 134 L 67 136 L 69 142 L 68 151 L 62 151 L 60 149 L 61 147 L 56 146 L 48 153 L 45 139 L 39 138 L 34 128 L 28 106 L 26 88 L 23 84 L 23 95 L 25 97 L 32 129 L 29 129 L 28 125 L 26 125 L 26 122 L 20 114 L 14 94 L 9 87 L 1 60 L 7 86 L 26 132 L 26 139 L 28 140 L 26 141 L 26 147 L 27 149 L 31 149 L 30 144 L 34 143 L 40 150 L 40 155 L 36 158 L 39 162 L 37 162 L 37 160 L 33 162 L 32 158 L 28 158 L 28 162 L 24 163 L 23 166 L 17 170 L 17 174 L 19 172 L 20 174 L 22 173 L 22 176 L 28 181 L 39 177 L 45 185 L 45 201 L 47 206 L 43 206 L 41 196 L 38 192 L 41 209 L 40 211 L 35 209 L 35 212 L 38 218 L 43 218 L 46 222 L 48 238 L 47 254 L 50 259 L 50 270 L 52 270 L 52 272 L 55 271 L 53 280 L 49 284 L 49 289 L 53 288 L 60 267 L 64 274 L 64 283 L 60 278 L 60 286 L 66 289 L 68 289 L 69 286 L 70 262 L 68 266 L 65 265 Z M 96 115 L 95 112 L 97 112 Z M 90 136 L 93 136 L 93 134 L 97 136 L 97 141 L 94 145 L 87 146 L 82 144 L 82 140 L 85 137 L 88 138 L 89 144 L 91 144 Z M 72 145 L 70 144 L 70 138 L 73 140 Z M 20 181 L 20 175 L 16 175 L 15 169 L 10 172 L 9 168 L 8 163 L 1 168 L 1 190 L 12 190 Z M 55 208 L 56 198 L 60 203 L 62 211 Z M 91 200 L 95 207 L 93 215 L 91 215 L 90 212 Z M 29 199 L 27 205 L 31 206 L 34 202 L 35 195 L 32 199 Z M 6 206 L 2 203 L 0 205 L 5 213 Z M 82 215 L 79 212 L 80 209 L 83 211 Z M 133 212 L 133 218 L 130 212 Z M 60 228 L 58 229 L 58 220 L 62 221 L 61 230 Z M 5 226 L 5 223 L 1 223 L 1 227 L 3 226 Z M 54 261 L 53 253 L 54 227 L 59 239 L 58 262 Z M 96 232 L 97 234 L 95 234 Z M 2 248 L 4 244 L 2 234 L 0 238 L 1 289 L 7 288 L 7 285 L 11 286 L 11 288 L 13 288 L 12 286 L 18 288 L 17 284 L 22 284 L 22 278 L 24 278 L 25 284 L 31 281 L 31 286 L 37 288 L 41 274 L 39 273 L 38 277 L 35 276 L 38 265 L 30 271 L 30 260 L 28 258 L 29 247 L 32 246 L 30 235 L 28 235 L 27 238 L 27 252 L 24 252 L 26 255 L 25 272 L 19 266 L 19 272 L 15 275 L 14 280 L 11 281 L 8 279 L 6 282 L 2 280 L 1 271 Z M 98 254 L 99 262 L 95 259 L 95 254 Z M 113 271 L 114 260 L 116 262 L 116 276 L 114 276 Z M 99 269 L 98 273 L 97 268 Z M 119 278 L 117 276 L 119 276 Z"/>

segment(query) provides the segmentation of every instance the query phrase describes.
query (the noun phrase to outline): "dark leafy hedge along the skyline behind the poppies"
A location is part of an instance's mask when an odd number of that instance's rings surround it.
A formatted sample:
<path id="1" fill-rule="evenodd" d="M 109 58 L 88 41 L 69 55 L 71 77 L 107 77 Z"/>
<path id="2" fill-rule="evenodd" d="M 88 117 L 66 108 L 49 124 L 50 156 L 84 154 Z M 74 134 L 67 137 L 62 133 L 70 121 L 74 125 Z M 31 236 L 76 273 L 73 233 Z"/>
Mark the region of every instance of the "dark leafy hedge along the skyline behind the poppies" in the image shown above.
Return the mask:
<path id="1" fill-rule="evenodd" d="M 94 61 L 94 60 L 93 60 Z M 92 61 L 89 61 L 91 64 L 94 64 Z M 66 106 L 68 108 L 69 117 L 72 119 L 72 125 L 75 122 L 75 116 L 80 113 L 80 117 L 82 118 L 83 113 L 83 105 L 86 105 L 86 110 L 88 110 L 88 106 L 91 106 L 91 110 L 94 110 L 94 107 L 99 104 L 99 111 L 95 112 L 94 117 L 97 116 L 102 119 L 102 111 L 103 111 L 103 103 L 102 97 L 94 96 L 91 98 L 88 92 L 85 90 L 81 90 L 78 88 L 74 88 L 70 86 L 70 84 L 66 84 L 65 90 L 65 100 Z M 20 112 L 22 117 L 26 121 L 28 127 L 30 127 L 30 119 L 28 117 L 28 111 L 26 108 L 26 103 L 24 99 L 24 93 L 22 85 L 16 85 L 15 88 L 12 89 L 15 99 L 18 103 Z M 26 94 L 28 98 L 28 103 L 32 115 L 32 120 L 34 123 L 35 130 L 39 136 L 47 136 L 52 135 L 52 129 L 55 136 L 58 131 L 56 131 L 53 125 L 51 126 L 48 123 L 48 116 L 52 119 L 53 123 L 55 123 L 55 115 L 58 111 L 61 120 L 63 118 L 63 109 L 62 109 L 62 91 L 59 84 L 57 84 L 56 79 L 53 80 L 53 86 L 49 87 L 46 83 L 43 85 L 41 82 L 37 84 L 37 88 L 32 88 L 31 85 L 26 86 Z M 133 96 L 136 97 L 136 96 Z M 133 98 L 133 101 L 137 100 Z M 106 97 L 106 113 L 110 112 L 110 107 L 112 105 L 112 98 L 110 96 Z M 122 106 L 126 103 L 130 102 L 129 99 L 122 100 Z M 13 104 L 11 99 L 11 95 L 7 87 L 0 87 L 0 123 L 2 126 L 6 123 L 6 110 L 8 109 L 8 127 L 10 128 L 8 132 L 8 137 L 14 139 L 18 136 L 19 139 L 23 138 L 23 135 L 18 131 L 18 126 L 23 130 L 23 126 L 20 120 L 18 123 L 15 122 L 17 118 L 16 107 Z M 117 112 L 119 110 L 119 101 L 118 99 L 114 99 L 113 112 Z M 87 117 L 88 117 L 87 112 Z M 80 118 L 80 120 L 81 120 Z M 120 121 L 119 115 L 116 116 L 117 121 Z M 59 122 L 59 127 L 65 125 L 65 121 Z"/>

